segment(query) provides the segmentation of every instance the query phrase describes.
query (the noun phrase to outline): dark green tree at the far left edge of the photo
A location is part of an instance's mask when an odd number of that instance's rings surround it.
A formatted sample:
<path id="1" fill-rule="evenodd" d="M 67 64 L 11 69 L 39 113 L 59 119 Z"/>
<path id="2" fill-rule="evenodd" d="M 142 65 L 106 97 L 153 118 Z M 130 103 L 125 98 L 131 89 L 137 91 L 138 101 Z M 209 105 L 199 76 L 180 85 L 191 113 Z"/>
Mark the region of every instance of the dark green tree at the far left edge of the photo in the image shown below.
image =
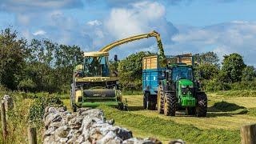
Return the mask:
<path id="1" fill-rule="evenodd" d="M 10 28 L 0 34 L 0 83 L 14 90 L 18 86 L 26 56 L 26 40 L 18 39 Z"/>

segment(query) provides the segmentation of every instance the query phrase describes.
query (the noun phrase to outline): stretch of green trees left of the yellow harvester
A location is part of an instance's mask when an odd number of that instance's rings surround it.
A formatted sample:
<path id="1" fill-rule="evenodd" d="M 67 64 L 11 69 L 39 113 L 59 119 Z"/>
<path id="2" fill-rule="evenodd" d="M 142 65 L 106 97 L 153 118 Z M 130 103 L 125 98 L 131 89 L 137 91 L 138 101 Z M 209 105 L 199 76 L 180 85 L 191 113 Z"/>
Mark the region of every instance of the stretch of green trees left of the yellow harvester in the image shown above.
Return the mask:
<path id="1" fill-rule="evenodd" d="M 75 58 L 82 61 L 78 46 L 59 45 L 49 39 L 18 38 L 17 32 L 0 34 L 0 84 L 10 90 L 68 90 Z"/>

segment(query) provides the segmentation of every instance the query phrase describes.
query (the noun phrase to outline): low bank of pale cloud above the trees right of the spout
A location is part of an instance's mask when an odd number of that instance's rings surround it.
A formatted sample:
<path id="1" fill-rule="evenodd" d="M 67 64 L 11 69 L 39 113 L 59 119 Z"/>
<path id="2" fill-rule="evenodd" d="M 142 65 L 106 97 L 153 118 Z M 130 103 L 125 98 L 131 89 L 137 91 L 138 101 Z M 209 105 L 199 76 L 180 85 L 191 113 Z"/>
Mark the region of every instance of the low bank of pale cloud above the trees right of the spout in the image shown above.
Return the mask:
<path id="1" fill-rule="evenodd" d="M 256 22 L 234 21 L 194 28 L 172 39 L 173 48 L 182 48 L 182 51 L 214 51 L 220 59 L 225 54 L 238 53 L 242 54 L 246 64 L 255 66 L 256 63 Z"/>

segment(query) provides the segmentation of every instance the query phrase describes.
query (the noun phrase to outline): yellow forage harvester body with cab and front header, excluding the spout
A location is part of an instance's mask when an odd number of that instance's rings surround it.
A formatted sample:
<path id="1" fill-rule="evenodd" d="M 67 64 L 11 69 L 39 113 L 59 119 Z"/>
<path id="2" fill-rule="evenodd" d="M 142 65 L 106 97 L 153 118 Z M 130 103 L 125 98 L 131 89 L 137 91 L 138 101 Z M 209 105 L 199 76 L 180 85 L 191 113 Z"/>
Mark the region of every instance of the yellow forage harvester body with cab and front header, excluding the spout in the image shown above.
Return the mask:
<path id="1" fill-rule="evenodd" d="M 126 109 L 122 93 L 118 90 L 118 78 L 111 74 L 108 57 L 108 52 L 87 52 L 82 64 L 75 67 L 70 90 L 74 111 L 77 107 L 101 104 Z"/>

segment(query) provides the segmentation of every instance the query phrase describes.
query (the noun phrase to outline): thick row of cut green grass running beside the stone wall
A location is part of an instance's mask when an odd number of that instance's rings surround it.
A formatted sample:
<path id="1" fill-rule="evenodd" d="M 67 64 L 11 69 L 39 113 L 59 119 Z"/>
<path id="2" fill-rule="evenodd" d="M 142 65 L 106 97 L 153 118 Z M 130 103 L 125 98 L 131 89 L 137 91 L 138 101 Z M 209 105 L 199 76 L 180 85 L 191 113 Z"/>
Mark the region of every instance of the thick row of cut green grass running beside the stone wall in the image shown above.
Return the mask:
<path id="1" fill-rule="evenodd" d="M 158 117 L 147 117 L 120 111 L 107 106 L 101 106 L 106 118 L 114 118 L 119 126 L 129 127 L 130 130 L 142 130 L 149 136 L 165 139 L 181 138 L 190 143 L 239 143 L 239 130 L 201 130 L 195 126 Z"/>

